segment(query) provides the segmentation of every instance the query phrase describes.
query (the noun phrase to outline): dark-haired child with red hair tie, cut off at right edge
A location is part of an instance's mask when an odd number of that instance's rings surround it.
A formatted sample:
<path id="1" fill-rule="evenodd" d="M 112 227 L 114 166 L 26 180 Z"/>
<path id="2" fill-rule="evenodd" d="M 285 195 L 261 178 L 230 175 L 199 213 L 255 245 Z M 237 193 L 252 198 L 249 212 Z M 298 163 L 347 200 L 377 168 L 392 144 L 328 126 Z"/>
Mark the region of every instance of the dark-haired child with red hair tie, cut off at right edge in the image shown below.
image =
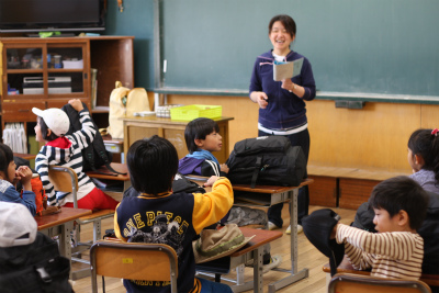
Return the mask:
<path id="1" fill-rule="evenodd" d="M 439 194 L 439 135 L 438 128 L 417 129 L 408 139 L 410 178 L 425 190 Z"/>

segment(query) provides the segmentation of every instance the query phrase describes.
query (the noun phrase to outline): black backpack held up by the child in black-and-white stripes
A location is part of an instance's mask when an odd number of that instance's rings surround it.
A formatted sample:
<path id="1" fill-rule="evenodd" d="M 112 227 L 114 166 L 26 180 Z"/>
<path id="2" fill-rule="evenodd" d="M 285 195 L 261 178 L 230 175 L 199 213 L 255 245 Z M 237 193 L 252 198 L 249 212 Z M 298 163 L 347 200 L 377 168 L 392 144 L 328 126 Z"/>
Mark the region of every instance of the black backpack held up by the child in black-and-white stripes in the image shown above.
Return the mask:
<path id="1" fill-rule="evenodd" d="M 82 103 L 83 109 L 89 111 L 87 105 Z M 67 133 L 67 135 L 71 135 L 77 131 L 80 131 L 82 128 L 81 122 L 79 121 L 79 113 L 76 111 L 70 104 L 65 104 L 61 110 L 67 113 L 67 116 L 70 120 L 70 128 Z M 89 111 L 90 112 L 90 111 Z M 85 149 L 82 149 L 82 171 L 94 171 L 98 173 L 101 173 L 97 169 L 105 166 L 106 169 L 109 169 L 111 172 L 113 172 L 114 176 L 120 174 L 121 172 L 115 171 L 113 168 L 111 168 L 110 164 L 112 160 L 112 154 L 105 149 L 105 145 L 103 144 L 103 139 L 101 136 L 101 133 L 98 131 L 98 126 L 95 125 L 94 121 L 91 119 L 91 122 L 94 125 L 94 128 L 97 129 L 97 133 L 94 135 L 93 142 Z M 108 174 L 108 173 L 105 173 Z M 125 173 L 123 173 L 125 174 Z"/>

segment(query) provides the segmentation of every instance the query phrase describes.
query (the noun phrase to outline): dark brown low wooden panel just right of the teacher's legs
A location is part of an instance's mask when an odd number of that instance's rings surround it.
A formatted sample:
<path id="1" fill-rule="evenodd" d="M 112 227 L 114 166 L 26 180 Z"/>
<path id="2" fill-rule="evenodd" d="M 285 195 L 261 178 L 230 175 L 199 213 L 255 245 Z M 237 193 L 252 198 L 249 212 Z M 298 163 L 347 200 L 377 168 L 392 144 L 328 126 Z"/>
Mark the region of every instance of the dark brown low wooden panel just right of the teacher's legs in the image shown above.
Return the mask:
<path id="1" fill-rule="evenodd" d="M 308 185 L 309 204 L 328 207 L 337 206 L 338 187 L 337 178 L 325 176 L 308 176 L 314 183 Z"/>

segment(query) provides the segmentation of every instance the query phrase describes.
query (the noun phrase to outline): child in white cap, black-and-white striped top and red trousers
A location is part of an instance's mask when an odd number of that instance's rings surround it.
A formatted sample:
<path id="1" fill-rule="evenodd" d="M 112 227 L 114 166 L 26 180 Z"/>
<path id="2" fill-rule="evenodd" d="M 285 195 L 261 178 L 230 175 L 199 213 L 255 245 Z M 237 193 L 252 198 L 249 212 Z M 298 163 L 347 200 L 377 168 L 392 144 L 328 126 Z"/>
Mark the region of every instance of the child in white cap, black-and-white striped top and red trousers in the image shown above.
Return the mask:
<path id="1" fill-rule="evenodd" d="M 98 189 L 91 179 L 82 172 L 82 154 L 94 138 L 97 129 L 91 123 L 89 112 L 83 110 L 80 100 L 70 100 L 69 104 L 79 112 L 82 129 L 66 135 L 70 127 L 67 114 L 60 109 L 32 109 L 37 115 L 35 126 L 36 142 L 45 144 L 35 158 L 35 169 L 40 173 L 46 190 L 48 204 L 74 207 L 71 193 L 57 192 L 48 180 L 48 166 L 70 167 L 78 174 L 78 207 L 88 210 L 114 210 L 119 202 Z"/>

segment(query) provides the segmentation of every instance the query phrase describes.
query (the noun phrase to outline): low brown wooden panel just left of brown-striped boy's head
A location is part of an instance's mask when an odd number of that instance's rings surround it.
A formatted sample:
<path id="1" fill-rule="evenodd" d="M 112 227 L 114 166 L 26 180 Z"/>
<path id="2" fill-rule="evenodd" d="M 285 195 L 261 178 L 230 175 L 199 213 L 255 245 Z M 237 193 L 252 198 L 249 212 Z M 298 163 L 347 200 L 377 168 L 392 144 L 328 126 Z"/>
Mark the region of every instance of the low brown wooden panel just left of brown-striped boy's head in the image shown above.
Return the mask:
<path id="1" fill-rule="evenodd" d="M 380 182 L 376 180 L 340 178 L 338 206 L 357 210 L 360 204 L 369 200 L 372 189 Z"/>

